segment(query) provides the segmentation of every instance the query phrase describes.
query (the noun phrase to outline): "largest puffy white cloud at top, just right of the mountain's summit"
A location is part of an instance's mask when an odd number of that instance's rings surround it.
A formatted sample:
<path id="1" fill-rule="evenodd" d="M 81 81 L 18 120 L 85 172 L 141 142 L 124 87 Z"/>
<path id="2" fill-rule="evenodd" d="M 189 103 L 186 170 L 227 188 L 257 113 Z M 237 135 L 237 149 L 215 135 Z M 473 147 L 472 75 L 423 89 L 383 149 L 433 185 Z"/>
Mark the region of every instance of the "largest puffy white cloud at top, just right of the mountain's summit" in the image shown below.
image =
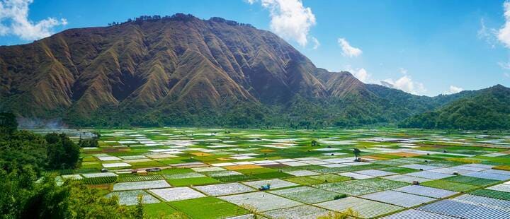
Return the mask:
<path id="1" fill-rule="evenodd" d="M 247 0 L 254 4 L 258 0 Z M 260 0 L 269 10 L 271 30 L 280 37 L 295 40 L 302 47 L 308 43 L 308 33 L 315 25 L 312 9 L 302 5 L 301 0 Z"/>

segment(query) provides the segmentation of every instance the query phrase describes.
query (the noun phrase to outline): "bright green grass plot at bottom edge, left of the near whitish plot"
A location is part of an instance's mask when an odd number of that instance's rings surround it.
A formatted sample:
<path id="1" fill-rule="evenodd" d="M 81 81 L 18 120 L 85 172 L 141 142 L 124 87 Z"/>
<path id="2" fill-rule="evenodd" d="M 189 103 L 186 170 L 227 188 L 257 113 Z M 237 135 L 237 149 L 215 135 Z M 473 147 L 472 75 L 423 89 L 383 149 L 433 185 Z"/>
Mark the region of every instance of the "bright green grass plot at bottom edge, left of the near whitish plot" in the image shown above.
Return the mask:
<path id="1" fill-rule="evenodd" d="M 169 202 L 191 218 L 229 218 L 248 213 L 246 209 L 214 197 Z"/>

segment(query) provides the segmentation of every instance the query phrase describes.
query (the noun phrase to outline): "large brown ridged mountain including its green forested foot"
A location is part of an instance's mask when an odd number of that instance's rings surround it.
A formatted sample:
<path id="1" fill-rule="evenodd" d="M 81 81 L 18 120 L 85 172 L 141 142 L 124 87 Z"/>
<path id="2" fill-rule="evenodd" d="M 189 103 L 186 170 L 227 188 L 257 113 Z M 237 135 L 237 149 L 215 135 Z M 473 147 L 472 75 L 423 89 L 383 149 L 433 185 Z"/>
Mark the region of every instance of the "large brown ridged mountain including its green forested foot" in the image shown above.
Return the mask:
<path id="1" fill-rule="evenodd" d="M 319 69 L 266 30 L 178 13 L 0 47 L 0 111 L 74 126 L 395 123 L 422 97 Z"/>

